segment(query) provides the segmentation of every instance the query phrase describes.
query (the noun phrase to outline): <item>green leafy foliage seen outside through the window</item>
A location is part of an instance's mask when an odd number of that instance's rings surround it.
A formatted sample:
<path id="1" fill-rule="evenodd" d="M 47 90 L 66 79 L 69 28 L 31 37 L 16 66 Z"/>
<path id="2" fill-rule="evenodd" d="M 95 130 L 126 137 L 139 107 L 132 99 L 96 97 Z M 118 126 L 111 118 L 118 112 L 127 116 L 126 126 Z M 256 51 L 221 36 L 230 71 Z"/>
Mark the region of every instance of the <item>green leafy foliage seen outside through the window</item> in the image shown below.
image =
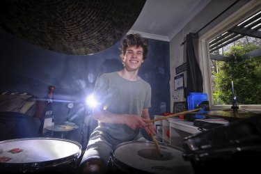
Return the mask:
<path id="1" fill-rule="evenodd" d="M 261 56 L 243 58 L 244 54 L 259 48 L 253 43 L 239 42 L 225 52 L 228 61 L 218 61 L 219 71 L 212 72 L 215 104 L 232 104 L 232 81 L 237 104 L 261 104 Z"/>

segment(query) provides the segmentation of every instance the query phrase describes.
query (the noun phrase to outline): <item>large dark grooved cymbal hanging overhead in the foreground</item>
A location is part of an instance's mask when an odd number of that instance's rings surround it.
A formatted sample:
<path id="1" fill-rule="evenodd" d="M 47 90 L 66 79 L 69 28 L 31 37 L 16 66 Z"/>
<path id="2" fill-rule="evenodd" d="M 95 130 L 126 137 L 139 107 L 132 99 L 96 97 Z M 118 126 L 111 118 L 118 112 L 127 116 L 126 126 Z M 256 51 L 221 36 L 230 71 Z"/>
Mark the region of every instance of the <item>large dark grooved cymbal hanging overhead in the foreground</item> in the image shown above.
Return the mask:
<path id="1" fill-rule="evenodd" d="M 144 4 L 145 0 L 1 0 L 0 25 L 54 52 L 95 54 L 131 29 Z"/>

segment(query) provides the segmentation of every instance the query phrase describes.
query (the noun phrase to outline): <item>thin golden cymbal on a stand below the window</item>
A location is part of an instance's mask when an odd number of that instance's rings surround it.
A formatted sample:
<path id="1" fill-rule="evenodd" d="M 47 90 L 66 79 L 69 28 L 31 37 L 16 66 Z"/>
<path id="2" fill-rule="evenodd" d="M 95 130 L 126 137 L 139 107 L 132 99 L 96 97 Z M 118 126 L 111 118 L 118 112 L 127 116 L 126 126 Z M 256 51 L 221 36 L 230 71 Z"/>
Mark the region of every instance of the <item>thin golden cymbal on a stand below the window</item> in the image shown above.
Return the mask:
<path id="1" fill-rule="evenodd" d="M 250 118 L 252 116 L 257 115 L 251 111 L 247 111 L 245 109 L 225 109 L 222 111 L 206 111 L 203 113 L 197 112 L 193 114 L 205 115 L 205 116 L 214 116 L 221 118 Z"/>

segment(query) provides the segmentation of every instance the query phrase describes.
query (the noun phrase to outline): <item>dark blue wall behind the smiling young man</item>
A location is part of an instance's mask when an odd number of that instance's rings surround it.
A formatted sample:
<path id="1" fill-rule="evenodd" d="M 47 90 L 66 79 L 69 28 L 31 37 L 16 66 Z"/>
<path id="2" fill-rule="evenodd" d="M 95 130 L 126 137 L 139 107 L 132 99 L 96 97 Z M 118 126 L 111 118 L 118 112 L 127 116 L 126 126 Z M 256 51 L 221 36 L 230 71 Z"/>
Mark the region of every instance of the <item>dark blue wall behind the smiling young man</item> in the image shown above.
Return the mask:
<path id="1" fill-rule="evenodd" d="M 67 100 L 77 101 L 70 111 L 70 121 L 81 125 L 86 117 L 84 100 L 92 93 L 102 72 L 122 69 L 120 42 L 103 52 L 72 56 L 51 52 L 31 45 L 0 28 L 0 91 L 26 92 L 45 97 L 47 87 L 54 85 L 54 116 L 56 125 L 68 116 Z M 149 52 L 139 74 L 152 86 L 150 116 L 170 111 L 169 43 L 149 39 Z M 80 133 L 79 133 L 80 134 Z M 78 136 L 80 136 L 78 134 Z M 77 138 L 79 141 L 81 137 Z"/>

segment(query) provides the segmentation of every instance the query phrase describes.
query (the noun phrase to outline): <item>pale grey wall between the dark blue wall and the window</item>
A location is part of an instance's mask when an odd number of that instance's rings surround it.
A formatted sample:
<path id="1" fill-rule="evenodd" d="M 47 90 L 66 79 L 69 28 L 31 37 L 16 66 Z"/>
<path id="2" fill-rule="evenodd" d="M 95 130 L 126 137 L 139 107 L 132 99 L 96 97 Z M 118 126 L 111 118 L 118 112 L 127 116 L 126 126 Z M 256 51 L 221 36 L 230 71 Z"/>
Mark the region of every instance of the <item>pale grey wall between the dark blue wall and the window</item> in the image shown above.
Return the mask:
<path id="1" fill-rule="evenodd" d="M 175 37 L 171 39 L 170 41 L 171 109 L 173 108 L 173 102 L 175 101 L 173 94 L 177 92 L 183 93 L 183 90 L 179 90 L 179 91 L 174 90 L 174 77 L 177 75 L 175 73 L 175 68 L 177 68 L 177 66 L 179 65 L 182 65 L 182 63 L 186 62 L 186 58 L 184 57 L 184 45 L 181 45 L 182 42 L 186 40 L 186 35 L 188 33 L 197 33 L 198 31 L 200 31 L 198 33 L 199 36 L 203 35 L 207 31 L 209 31 L 209 29 L 212 29 L 212 27 L 222 22 L 223 19 L 226 19 L 226 17 L 230 16 L 232 13 L 235 13 L 236 10 L 244 6 L 249 1 L 248 0 L 238 1 L 229 10 L 226 10 L 225 13 L 223 13 L 217 19 L 211 22 L 212 19 L 217 17 L 220 13 L 223 12 L 223 10 L 228 8 L 228 6 L 230 6 L 234 2 L 235 1 L 232 0 L 210 1 L 207 4 L 207 6 L 200 13 L 198 13 L 198 15 L 196 15 L 196 17 L 193 17 L 193 19 L 191 19 L 191 21 L 186 26 L 184 26 L 184 28 L 179 33 L 177 33 L 177 35 L 175 35 Z M 209 22 L 211 23 L 205 26 Z M 203 26 L 205 26 L 204 29 L 202 29 Z M 200 60 L 198 60 L 198 62 L 200 64 Z M 201 70 L 203 69 L 201 64 L 200 64 L 200 68 Z M 184 73 L 184 81 L 185 81 L 184 84 L 186 86 L 187 74 L 186 72 L 182 72 L 182 73 Z M 186 99 L 184 97 L 181 97 L 175 102 L 182 102 L 182 101 L 186 101 Z"/>

